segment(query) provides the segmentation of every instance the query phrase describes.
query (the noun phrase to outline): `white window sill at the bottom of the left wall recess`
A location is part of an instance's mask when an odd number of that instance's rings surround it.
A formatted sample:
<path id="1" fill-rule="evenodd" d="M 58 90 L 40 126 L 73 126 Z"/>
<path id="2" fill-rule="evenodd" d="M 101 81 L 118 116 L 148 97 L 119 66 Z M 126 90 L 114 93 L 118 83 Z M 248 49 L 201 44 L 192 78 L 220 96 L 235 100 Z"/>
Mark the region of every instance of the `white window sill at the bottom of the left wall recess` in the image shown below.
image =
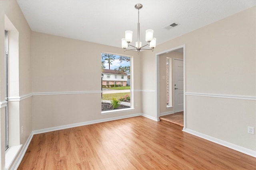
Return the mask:
<path id="1" fill-rule="evenodd" d="M 14 147 L 9 147 L 5 152 L 5 169 L 8 170 L 12 161 L 17 156 L 18 152 L 20 151 L 22 145 L 17 145 Z"/>

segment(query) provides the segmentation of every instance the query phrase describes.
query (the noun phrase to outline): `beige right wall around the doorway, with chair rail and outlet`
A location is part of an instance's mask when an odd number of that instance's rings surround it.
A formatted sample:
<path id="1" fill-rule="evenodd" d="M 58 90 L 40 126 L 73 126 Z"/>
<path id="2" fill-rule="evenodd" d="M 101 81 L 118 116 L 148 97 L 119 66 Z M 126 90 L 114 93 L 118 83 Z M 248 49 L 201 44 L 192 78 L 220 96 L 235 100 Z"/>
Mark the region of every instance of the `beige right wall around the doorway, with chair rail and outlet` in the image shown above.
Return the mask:
<path id="1" fill-rule="evenodd" d="M 243 26 L 237 22 L 242 21 Z M 143 52 L 142 90 L 156 90 L 156 53 L 185 45 L 186 93 L 256 96 L 256 9 L 234 14 Z M 148 66 L 150 64 L 151 66 Z M 150 78 L 147 77 L 150 72 Z M 147 92 L 142 92 L 144 96 Z M 142 110 L 156 104 L 156 94 Z M 157 109 L 157 108 L 156 108 Z M 144 112 L 154 115 L 154 111 Z M 221 126 L 220 126 L 221 125 Z M 186 95 L 186 128 L 256 151 L 256 101 Z M 221 129 L 220 129 L 221 127 Z M 243 138 L 241 138 L 243 137 Z M 250 142 L 249 142 L 250 141 Z"/>

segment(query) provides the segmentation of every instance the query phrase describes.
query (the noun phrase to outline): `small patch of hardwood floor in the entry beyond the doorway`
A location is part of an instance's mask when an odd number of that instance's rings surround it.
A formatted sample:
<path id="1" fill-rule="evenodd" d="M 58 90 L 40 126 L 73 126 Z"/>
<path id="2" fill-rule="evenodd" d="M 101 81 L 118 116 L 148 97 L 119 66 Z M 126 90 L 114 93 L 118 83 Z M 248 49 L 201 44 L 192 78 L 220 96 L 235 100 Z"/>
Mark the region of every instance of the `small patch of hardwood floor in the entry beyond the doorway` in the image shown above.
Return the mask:
<path id="1" fill-rule="evenodd" d="M 162 121 L 168 121 L 170 123 L 174 123 L 176 125 L 179 125 L 181 127 L 184 127 L 184 116 L 183 116 L 183 111 L 177 112 L 177 113 L 173 113 L 173 114 L 169 114 L 169 115 L 164 115 L 164 116 L 160 116 L 159 119 Z"/>

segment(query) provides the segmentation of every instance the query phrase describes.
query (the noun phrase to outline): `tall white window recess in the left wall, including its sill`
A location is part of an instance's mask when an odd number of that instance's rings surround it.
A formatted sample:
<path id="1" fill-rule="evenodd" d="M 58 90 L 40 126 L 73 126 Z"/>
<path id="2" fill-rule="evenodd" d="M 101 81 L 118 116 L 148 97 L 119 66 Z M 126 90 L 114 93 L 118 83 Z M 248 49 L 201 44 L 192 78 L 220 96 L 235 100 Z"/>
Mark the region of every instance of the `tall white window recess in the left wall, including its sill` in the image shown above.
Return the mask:
<path id="1" fill-rule="evenodd" d="M 16 65 L 19 65 L 19 32 L 14 27 L 12 22 L 7 18 L 6 15 L 4 15 L 4 22 L 7 23 L 8 27 L 5 27 L 4 37 L 5 37 L 5 73 L 2 72 L 2 76 L 5 76 L 4 84 L 5 88 L 3 88 L 3 92 L 5 91 L 4 97 L 6 100 L 6 106 L 5 106 L 5 127 L 3 127 L 2 130 L 5 131 L 5 167 L 9 167 L 11 160 L 15 157 L 16 154 L 18 154 L 18 150 L 20 147 L 20 106 L 13 106 L 10 104 L 10 102 L 14 100 L 10 100 L 10 94 L 13 96 L 20 96 L 18 89 L 19 89 L 19 69 L 16 67 Z M 4 57 L 4 56 L 2 56 Z M 10 88 L 9 84 L 12 84 L 12 88 Z M 12 102 L 14 103 L 14 102 Z M 2 112 L 1 112 L 2 113 Z M 12 119 L 9 115 L 12 115 Z M 14 125 L 14 126 L 12 126 Z M 21 128 L 22 129 L 22 128 Z M 24 134 L 29 135 L 29 134 Z M 15 147 L 17 146 L 17 147 Z M 20 145 L 21 146 L 21 145 Z"/>

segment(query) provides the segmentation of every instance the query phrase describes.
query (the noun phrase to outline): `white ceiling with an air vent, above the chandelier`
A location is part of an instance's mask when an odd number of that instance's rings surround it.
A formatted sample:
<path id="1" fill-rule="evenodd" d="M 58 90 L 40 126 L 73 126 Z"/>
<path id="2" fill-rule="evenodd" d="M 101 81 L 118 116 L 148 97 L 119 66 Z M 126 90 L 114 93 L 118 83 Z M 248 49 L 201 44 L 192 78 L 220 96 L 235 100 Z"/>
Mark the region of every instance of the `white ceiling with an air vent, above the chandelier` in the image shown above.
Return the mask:
<path id="1" fill-rule="evenodd" d="M 256 0 L 17 0 L 32 31 L 121 47 L 124 31 L 137 41 L 153 29 L 156 45 L 256 5 Z M 176 22 L 180 25 L 164 29 Z M 241 26 L 242 21 L 237 21 Z"/>

